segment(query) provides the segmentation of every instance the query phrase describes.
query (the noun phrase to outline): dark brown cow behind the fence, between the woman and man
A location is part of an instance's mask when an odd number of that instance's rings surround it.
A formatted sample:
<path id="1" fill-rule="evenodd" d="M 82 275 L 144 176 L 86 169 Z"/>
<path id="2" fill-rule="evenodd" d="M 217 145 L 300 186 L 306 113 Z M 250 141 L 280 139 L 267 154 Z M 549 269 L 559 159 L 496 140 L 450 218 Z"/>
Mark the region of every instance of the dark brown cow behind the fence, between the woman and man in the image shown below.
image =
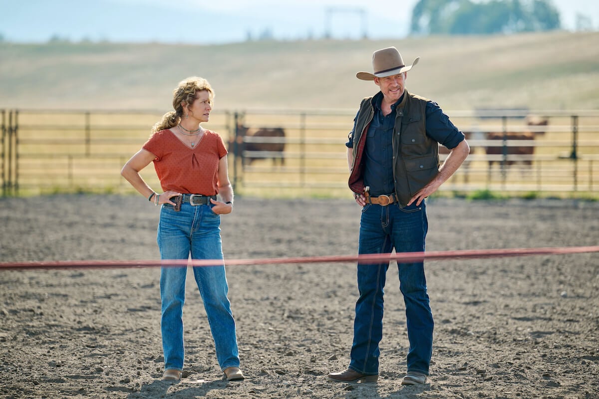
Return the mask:
<path id="1" fill-rule="evenodd" d="M 273 165 L 277 165 L 277 162 L 281 166 L 285 164 L 285 130 L 282 127 L 253 129 L 238 124 L 236 137 L 229 139 L 229 152 L 232 151 L 235 157 L 243 160 L 243 166 L 251 165 L 256 159 L 267 158 L 273 159 Z"/>

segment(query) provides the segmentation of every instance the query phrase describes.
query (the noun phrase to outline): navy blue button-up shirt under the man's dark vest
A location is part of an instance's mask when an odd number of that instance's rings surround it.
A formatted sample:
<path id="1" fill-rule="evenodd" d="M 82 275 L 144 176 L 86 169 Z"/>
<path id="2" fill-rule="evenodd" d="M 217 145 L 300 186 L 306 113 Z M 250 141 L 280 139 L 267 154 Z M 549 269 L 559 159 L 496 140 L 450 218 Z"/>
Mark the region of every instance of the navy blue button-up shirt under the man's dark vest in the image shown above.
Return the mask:
<path id="1" fill-rule="evenodd" d="M 404 93 L 404 95 L 406 94 Z M 392 139 L 395 127 L 395 108 L 401 103 L 403 96 L 391 105 L 391 112 L 386 116 L 383 115 L 381 109 L 383 94 L 379 92 L 371 100 L 374 106 L 374 117 L 366 133 L 363 173 L 364 185 L 370 186 L 370 194 L 375 197 L 395 192 Z M 346 142 L 347 148 L 353 147 L 357 117 L 356 114 L 352 132 Z M 450 150 L 464 140 L 464 134 L 455 127 L 435 102 L 428 101 L 426 103 L 425 124 L 426 135 Z"/>

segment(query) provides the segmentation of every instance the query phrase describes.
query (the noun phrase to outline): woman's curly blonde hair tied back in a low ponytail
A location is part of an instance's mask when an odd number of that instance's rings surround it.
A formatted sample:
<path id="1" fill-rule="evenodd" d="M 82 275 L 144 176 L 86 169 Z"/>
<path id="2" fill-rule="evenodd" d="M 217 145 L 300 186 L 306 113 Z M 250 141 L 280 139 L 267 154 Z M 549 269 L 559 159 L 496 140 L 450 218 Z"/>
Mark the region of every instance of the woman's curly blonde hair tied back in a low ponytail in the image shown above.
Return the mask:
<path id="1" fill-rule="evenodd" d="M 184 108 L 193 104 L 198 92 L 204 91 L 208 92 L 208 100 L 211 105 L 214 100 L 214 90 L 212 90 L 212 86 L 210 86 L 207 80 L 196 76 L 181 80 L 177 88 L 173 90 L 174 111 L 168 111 L 162 115 L 162 120 L 152 127 L 152 134 L 177 126 L 181 121 L 181 117 L 183 117 Z"/>

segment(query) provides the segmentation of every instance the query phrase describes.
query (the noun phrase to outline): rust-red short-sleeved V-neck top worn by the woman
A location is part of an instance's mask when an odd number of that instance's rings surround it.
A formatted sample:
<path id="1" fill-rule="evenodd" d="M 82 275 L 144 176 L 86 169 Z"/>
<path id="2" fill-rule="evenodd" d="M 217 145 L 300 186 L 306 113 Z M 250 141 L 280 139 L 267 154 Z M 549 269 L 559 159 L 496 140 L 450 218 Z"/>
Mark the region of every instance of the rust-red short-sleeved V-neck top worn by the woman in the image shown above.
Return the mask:
<path id="1" fill-rule="evenodd" d="M 205 196 L 219 193 L 219 161 L 227 151 L 218 133 L 204 130 L 201 141 L 189 148 L 166 129 L 154 133 L 142 148 L 156 157 L 153 162 L 162 191 Z"/>

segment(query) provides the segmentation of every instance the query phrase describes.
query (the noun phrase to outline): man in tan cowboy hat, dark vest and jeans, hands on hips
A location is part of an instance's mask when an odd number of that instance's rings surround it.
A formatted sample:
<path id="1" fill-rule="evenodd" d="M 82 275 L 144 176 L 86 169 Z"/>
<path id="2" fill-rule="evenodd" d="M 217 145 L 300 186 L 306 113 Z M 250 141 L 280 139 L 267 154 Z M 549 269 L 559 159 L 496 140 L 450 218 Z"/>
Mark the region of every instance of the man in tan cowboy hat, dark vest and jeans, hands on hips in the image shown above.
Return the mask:
<path id="1" fill-rule="evenodd" d="M 455 173 L 470 147 L 437 103 L 405 88 L 406 66 L 395 47 L 373 53 L 380 91 L 362 100 L 346 143 L 349 187 L 361 205 L 359 254 L 424 251 L 428 230 L 425 198 Z M 450 154 L 440 166 L 438 143 Z M 358 291 L 349 367 L 328 374 L 334 382 L 374 382 L 379 378 L 383 333 L 383 288 L 389 262 L 358 263 Z M 433 320 L 423 261 L 398 264 L 406 303 L 410 349 L 403 385 L 426 383 L 432 355 Z"/>

